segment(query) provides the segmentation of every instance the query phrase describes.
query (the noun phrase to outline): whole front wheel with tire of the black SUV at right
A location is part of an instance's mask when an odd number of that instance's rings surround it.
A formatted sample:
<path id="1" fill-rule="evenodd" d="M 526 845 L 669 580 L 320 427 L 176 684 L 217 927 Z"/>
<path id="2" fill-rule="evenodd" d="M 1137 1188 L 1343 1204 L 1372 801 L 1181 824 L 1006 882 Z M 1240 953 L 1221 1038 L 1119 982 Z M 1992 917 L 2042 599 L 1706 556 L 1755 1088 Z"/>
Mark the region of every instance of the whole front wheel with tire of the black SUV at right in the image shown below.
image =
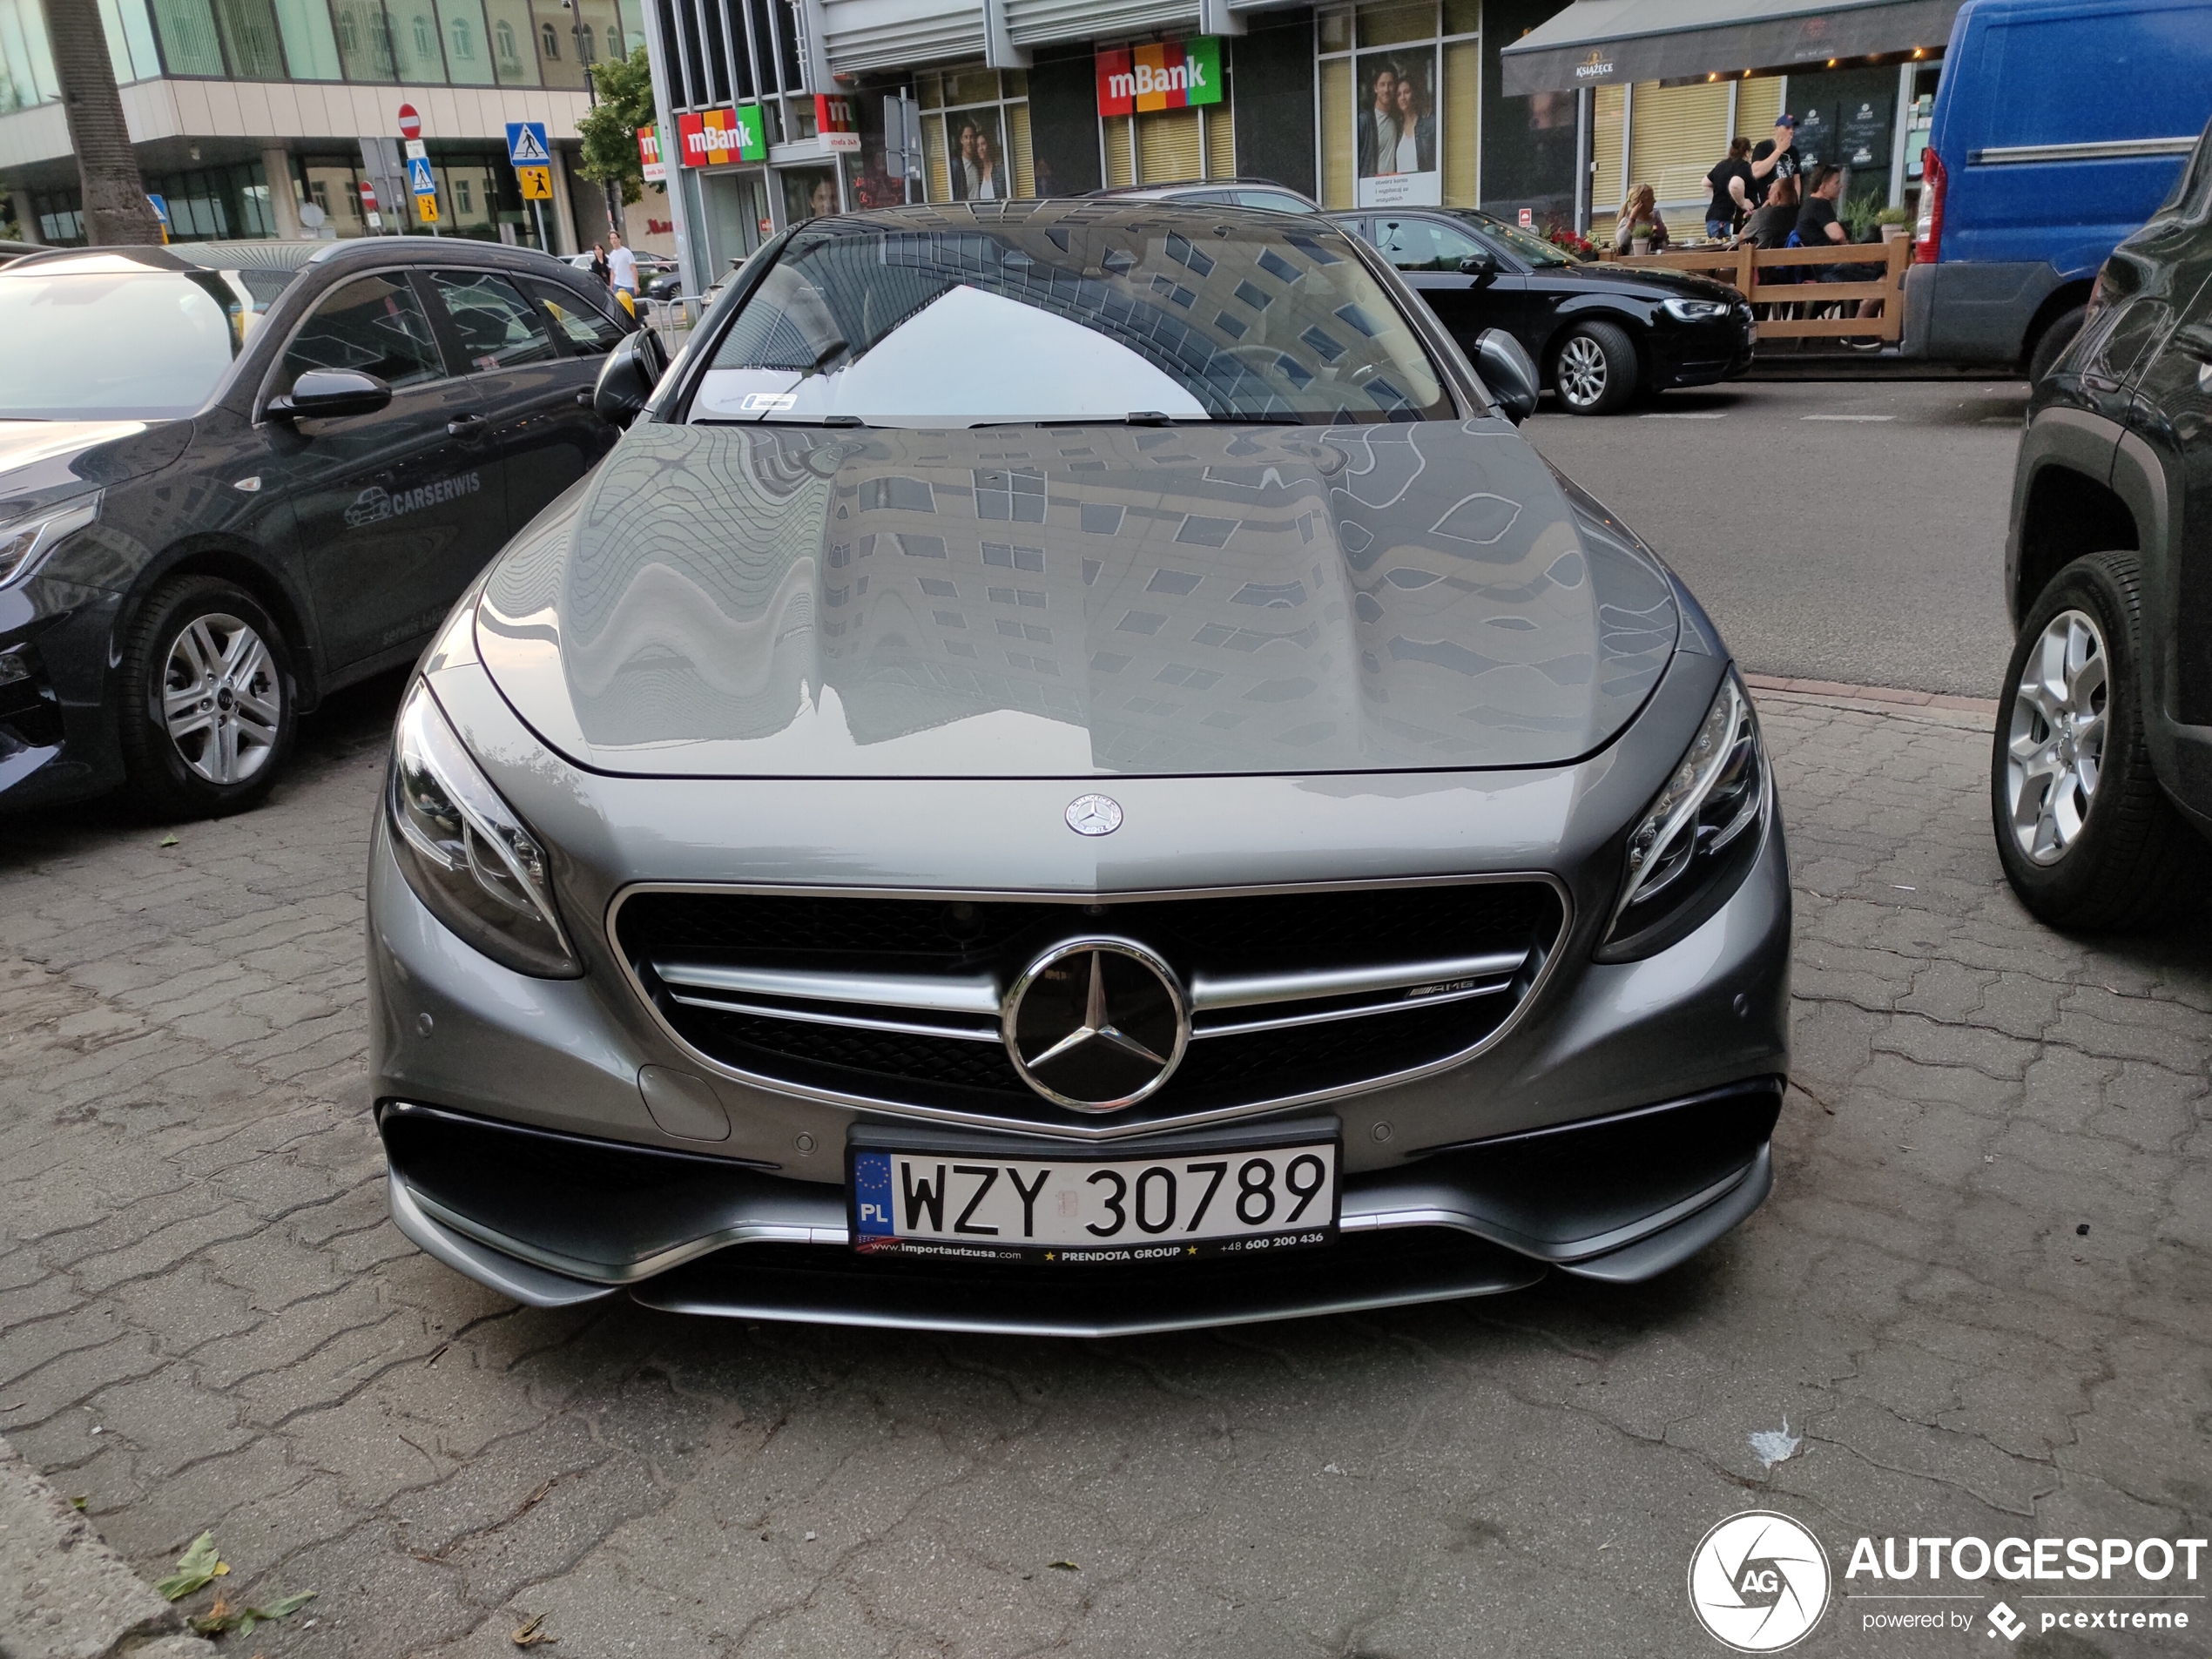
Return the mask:
<path id="1" fill-rule="evenodd" d="M 2132 553 L 2059 571 L 2028 608 L 1997 701 L 1997 856 L 2020 902 L 2066 931 L 2170 920 L 2205 856 L 2143 745 L 2139 586 Z"/>

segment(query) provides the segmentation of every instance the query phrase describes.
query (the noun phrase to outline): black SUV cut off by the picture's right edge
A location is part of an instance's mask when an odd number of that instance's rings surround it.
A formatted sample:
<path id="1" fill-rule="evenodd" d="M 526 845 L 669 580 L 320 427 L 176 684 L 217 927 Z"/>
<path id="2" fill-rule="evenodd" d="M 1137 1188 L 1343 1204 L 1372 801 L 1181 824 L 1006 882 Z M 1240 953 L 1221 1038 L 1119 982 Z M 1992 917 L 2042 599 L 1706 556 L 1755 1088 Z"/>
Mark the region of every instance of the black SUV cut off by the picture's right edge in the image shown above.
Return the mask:
<path id="1" fill-rule="evenodd" d="M 2053 927 L 2185 914 L 2212 869 L 2212 128 L 2035 385 L 2004 575 L 2004 874 Z"/>

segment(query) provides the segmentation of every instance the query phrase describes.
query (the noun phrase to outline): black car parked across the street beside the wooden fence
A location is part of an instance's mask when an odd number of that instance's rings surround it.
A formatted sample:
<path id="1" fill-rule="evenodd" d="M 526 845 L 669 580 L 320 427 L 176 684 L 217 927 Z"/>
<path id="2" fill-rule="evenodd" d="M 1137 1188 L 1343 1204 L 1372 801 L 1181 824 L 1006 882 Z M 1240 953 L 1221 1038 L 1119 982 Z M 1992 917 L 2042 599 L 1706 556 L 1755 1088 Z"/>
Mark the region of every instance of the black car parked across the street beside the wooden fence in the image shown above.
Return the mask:
<path id="1" fill-rule="evenodd" d="M 1517 338 L 1573 414 L 1613 414 L 1639 389 L 1712 385 L 1752 367 L 1752 307 L 1728 283 L 1588 265 L 1486 212 L 1336 212 L 1383 250 L 1469 352 Z"/>

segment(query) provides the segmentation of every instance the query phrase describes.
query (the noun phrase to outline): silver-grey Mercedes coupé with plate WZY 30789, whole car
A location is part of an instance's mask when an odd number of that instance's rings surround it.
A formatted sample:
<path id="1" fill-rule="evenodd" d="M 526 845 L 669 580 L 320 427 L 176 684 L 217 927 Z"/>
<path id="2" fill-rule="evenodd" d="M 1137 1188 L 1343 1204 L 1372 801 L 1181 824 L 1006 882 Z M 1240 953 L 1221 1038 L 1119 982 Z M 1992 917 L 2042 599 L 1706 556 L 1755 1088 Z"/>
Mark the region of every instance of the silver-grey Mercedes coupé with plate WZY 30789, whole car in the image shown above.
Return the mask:
<path id="1" fill-rule="evenodd" d="M 1770 1186 L 1728 648 L 1371 252 L 763 248 L 489 566 L 369 869 L 392 1214 L 524 1303 L 1152 1332 L 1637 1281 Z"/>

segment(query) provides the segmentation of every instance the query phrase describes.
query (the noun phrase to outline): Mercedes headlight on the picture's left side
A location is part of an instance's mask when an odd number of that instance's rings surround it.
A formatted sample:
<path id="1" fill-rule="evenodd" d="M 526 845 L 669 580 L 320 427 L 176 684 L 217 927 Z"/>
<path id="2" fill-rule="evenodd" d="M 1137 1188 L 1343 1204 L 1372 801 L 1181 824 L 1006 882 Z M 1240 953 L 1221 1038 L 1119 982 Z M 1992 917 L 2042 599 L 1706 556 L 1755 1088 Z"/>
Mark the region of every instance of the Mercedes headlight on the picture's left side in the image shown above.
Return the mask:
<path id="1" fill-rule="evenodd" d="M 515 973 L 584 971 L 553 909 L 544 847 L 469 759 L 422 679 L 400 703 L 385 805 L 400 872 L 440 922 Z"/>

